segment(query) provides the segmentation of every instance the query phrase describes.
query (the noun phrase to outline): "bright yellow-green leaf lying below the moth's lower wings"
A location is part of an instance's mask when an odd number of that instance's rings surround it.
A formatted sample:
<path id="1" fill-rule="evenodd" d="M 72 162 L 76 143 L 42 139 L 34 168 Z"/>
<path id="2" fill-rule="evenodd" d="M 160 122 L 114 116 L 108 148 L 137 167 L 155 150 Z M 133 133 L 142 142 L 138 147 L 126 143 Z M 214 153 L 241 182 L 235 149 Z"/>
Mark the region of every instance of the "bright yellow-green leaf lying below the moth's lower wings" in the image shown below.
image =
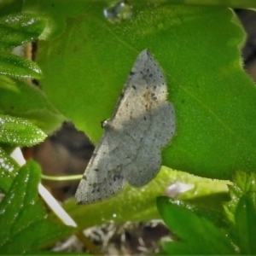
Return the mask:
<path id="1" fill-rule="evenodd" d="M 177 198 L 190 201 L 195 205 L 221 212 L 221 202 L 227 200 L 227 186 L 225 181 L 195 177 L 185 172 L 177 172 L 162 166 L 160 173 L 151 183 L 143 188 L 131 186 L 113 198 L 97 204 L 77 206 L 75 201 L 67 201 L 63 207 L 76 221 L 81 229 L 108 221 L 123 223 L 125 221 L 148 221 L 159 218 L 155 206 L 155 198 L 166 195 L 166 189 L 176 183 L 194 185 L 186 193 L 178 193 Z M 215 195 L 215 196 L 214 196 Z M 211 204 L 211 206 L 209 206 Z M 91 218 L 93 216 L 93 218 Z M 55 218 L 55 216 L 53 216 Z"/>

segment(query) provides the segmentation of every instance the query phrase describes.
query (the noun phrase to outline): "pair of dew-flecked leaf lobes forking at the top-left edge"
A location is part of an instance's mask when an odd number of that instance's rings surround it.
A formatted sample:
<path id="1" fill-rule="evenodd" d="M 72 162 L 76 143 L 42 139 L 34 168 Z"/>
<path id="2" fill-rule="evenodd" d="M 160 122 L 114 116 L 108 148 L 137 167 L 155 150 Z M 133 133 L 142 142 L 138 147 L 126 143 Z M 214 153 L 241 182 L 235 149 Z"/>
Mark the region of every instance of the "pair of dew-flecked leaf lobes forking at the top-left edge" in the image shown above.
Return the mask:
<path id="1" fill-rule="evenodd" d="M 44 26 L 45 20 L 34 17 L 34 15 L 11 14 L 0 18 L 1 74 L 15 78 L 40 79 L 42 77 L 41 70 L 36 63 L 3 51 L 38 38 Z"/>

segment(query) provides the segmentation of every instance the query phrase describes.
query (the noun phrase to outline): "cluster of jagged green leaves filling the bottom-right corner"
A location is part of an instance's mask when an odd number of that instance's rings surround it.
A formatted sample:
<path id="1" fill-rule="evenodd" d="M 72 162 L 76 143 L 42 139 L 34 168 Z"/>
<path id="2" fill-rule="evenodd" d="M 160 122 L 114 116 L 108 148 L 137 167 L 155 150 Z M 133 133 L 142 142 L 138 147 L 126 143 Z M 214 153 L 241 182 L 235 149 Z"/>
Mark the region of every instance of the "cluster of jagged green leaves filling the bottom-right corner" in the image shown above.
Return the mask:
<path id="1" fill-rule="evenodd" d="M 206 209 L 167 197 L 158 198 L 160 215 L 178 239 L 166 244 L 167 254 L 256 253 L 256 176 L 236 172 L 233 182 L 231 200 L 224 204 L 222 216 L 209 214 L 210 210 L 206 214 Z M 230 219 L 230 215 L 234 218 Z"/>

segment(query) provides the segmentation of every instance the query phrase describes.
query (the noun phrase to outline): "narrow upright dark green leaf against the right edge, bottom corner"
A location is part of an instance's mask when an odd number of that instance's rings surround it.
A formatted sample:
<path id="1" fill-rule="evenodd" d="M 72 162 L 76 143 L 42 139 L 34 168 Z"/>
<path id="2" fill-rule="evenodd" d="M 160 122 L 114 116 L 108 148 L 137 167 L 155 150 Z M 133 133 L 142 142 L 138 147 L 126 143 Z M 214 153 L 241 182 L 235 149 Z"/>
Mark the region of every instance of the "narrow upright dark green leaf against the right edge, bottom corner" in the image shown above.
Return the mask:
<path id="1" fill-rule="evenodd" d="M 243 195 L 236 207 L 237 245 L 241 254 L 256 254 L 256 208 L 250 196 Z"/>

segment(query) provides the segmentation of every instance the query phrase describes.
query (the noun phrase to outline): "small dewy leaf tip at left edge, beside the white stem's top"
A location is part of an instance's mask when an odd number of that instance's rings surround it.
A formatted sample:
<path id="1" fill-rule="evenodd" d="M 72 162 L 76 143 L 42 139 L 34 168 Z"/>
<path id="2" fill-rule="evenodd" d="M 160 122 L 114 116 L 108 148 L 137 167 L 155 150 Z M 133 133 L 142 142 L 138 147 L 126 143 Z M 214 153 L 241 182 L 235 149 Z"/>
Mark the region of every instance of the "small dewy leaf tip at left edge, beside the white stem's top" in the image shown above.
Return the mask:
<path id="1" fill-rule="evenodd" d="M 17 171 L 18 164 L 13 160 L 9 154 L 0 148 L 0 189 L 7 193 L 11 183 L 13 182 Z"/>

